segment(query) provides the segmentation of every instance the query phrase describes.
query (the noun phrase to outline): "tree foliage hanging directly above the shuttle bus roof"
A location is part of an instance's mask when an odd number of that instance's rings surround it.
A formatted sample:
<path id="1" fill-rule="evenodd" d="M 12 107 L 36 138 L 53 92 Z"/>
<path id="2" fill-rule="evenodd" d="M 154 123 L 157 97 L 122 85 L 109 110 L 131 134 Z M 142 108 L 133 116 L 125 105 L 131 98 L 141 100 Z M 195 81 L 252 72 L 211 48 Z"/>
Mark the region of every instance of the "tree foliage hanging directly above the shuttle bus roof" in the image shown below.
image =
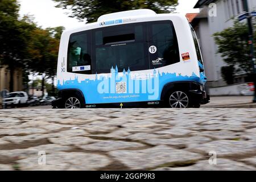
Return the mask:
<path id="1" fill-rule="evenodd" d="M 156 13 L 171 13 L 178 5 L 177 0 L 53 0 L 56 7 L 72 11 L 70 17 L 79 20 L 87 18 L 88 22 L 96 22 L 97 18 L 104 14 L 118 11 L 151 9 Z"/>

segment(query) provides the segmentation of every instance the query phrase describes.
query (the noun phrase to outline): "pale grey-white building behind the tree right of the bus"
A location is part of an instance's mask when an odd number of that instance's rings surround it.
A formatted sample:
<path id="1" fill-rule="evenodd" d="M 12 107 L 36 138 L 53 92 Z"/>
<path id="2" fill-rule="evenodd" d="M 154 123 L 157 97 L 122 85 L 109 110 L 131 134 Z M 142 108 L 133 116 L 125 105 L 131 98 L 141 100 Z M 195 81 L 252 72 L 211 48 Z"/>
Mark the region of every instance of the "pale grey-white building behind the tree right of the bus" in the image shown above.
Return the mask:
<path id="1" fill-rule="evenodd" d="M 247 0 L 249 10 L 256 10 L 256 0 Z M 215 3 L 216 15 L 209 16 L 209 5 Z M 205 72 L 208 77 L 208 86 L 224 86 L 225 81 L 221 76 L 221 67 L 225 66 L 220 53 L 217 53 L 218 46 L 214 42 L 213 34 L 220 32 L 225 28 L 232 27 L 234 20 L 245 13 L 242 0 L 199 0 L 195 8 L 200 8 L 199 15 L 193 19 L 192 24 L 195 27 L 199 38 L 201 51 L 203 54 Z M 246 19 L 244 20 L 246 21 Z M 237 82 L 243 82 L 243 73 L 237 73 Z M 240 80 L 239 80 L 240 77 Z"/>

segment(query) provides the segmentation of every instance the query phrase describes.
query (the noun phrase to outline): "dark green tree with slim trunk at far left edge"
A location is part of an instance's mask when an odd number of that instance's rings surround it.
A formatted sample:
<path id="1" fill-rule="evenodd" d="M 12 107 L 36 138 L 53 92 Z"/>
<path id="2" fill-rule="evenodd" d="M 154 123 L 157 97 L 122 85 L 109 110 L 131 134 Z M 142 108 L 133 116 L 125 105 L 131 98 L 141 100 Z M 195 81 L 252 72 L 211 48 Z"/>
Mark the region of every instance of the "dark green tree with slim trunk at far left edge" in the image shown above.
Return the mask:
<path id="1" fill-rule="evenodd" d="M 23 68 L 28 57 L 28 43 L 35 24 L 25 16 L 19 20 L 16 0 L 0 1 L 0 64 L 10 70 L 10 92 L 13 92 L 14 70 Z"/>

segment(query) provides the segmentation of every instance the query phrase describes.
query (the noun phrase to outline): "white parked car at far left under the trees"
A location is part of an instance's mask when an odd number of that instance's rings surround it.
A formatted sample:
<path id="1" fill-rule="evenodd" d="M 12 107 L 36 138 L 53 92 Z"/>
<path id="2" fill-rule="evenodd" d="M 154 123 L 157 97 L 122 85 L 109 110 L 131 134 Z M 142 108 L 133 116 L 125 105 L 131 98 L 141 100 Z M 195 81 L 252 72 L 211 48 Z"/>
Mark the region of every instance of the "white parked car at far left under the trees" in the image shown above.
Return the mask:
<path id="1" fill-rule="evenodd" d="M 28 96 L 26 92 L 11 92 L 7 94 L 6 98 L 3 98 L 3 104 L 6 107 L 19 107 L 27 105 Z"/>

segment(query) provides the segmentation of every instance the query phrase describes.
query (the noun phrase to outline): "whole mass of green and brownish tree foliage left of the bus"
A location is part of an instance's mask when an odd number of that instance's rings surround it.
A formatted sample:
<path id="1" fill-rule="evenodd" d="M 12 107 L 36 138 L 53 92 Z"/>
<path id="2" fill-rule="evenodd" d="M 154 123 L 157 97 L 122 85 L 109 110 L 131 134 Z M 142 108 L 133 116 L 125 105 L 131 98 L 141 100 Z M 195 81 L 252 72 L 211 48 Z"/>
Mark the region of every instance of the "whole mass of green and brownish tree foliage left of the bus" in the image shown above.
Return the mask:
<path id="1" fill-rule="evenodd" d="M 14 70 L 45 74 L 54 79 L 60 36 L 64 27 L 44 30 L 32 16 L 19 17 L 17 0 L 0 0 L 0 66 L 10 69 L 10 92 L 13 91 Z M 27 76 L 24 78 L 27 84 Z M 54 88 L 54 86 L 53 86 Z"/>

